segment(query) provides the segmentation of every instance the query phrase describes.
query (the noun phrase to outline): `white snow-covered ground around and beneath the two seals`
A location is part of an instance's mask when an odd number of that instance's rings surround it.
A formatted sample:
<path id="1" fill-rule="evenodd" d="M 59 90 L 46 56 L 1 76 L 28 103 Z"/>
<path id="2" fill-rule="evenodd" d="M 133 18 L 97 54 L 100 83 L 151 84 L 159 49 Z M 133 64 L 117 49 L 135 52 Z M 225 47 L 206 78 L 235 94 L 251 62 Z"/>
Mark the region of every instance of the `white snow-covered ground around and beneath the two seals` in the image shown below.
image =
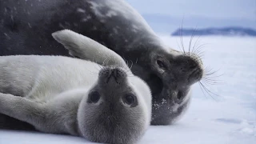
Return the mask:
<path id="1" fill-rule="evenodd" d="M 178 37 L 161 35 L 178 49 Z M 195 37 L 196 40 L 198 37 Z M 183 38 L 188 50 L 190 37 Z M 202 37 L 203 62 L 218 70 L 218 96 L 204 95 L 194 85 L 192 102 L 184 117 L 171 126 L 150 126 L 139 143 L 245 144 L 256 143 L 256 38 Z M 217 74 L 217 75 L 218 75 Z M 92 143 L 66 135 L 0 130 L 0 144 Z"/>

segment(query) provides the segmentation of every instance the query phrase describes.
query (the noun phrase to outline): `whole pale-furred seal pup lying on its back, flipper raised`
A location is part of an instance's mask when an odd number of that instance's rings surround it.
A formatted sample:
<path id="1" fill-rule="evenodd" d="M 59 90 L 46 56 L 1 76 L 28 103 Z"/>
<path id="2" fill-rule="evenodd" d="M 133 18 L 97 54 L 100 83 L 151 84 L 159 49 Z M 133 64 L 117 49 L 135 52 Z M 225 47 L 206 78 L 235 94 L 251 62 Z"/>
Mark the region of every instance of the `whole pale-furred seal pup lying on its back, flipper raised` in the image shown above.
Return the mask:
<path id="1" fill-rule="evenodd" d="M 72 34 L 76 42 L 70 42 Z M 53 35 L 80 50 L 92 42 L 65 30 Z M 102 47 L 97 42 L 89 45 L 95 46 L 91 50 Z M 138 142 L 150 126 L 150 87 L 129 73 L 118 54 L 108 49 L 105 54 L 114 65 L 63 56 L 1 56 L 0 113 L 45 133 L 71 134 L 92 142 Z"/>

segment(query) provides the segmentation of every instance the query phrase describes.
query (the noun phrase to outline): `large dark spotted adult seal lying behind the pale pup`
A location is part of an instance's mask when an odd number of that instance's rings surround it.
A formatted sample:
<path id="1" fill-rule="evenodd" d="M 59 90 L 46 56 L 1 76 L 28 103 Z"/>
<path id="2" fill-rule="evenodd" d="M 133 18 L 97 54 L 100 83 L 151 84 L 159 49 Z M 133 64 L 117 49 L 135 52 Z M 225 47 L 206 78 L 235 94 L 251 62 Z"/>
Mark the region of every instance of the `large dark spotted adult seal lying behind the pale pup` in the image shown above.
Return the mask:
<path id="1" fill-rule="evenodd" d="M 74 30 L 133 63 L 150 86 L 153 125 L 175 122 L 190 102 L 190 86 L 202 78 L 202 63 L 164 45 L 136 10 L 122 0 L 0 2 L 0 54 L 68 55 L 51 33 Z"/>

